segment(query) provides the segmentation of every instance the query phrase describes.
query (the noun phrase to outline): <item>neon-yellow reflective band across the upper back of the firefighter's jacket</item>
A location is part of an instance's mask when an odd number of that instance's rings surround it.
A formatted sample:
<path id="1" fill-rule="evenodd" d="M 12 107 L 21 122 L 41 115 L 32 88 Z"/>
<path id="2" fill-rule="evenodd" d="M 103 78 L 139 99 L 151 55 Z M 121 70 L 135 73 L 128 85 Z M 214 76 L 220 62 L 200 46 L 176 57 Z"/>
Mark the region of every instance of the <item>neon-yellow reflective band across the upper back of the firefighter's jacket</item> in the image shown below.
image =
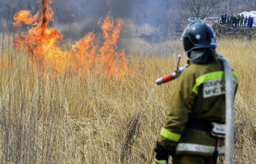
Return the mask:
<path id="1" fill-rule="evenodd" d="M 234 78 L 237 77 L 237 75 L 235 74 L 234 71 L 232 71 L 232 76 Z M 201 85 L 205 81 L 213 80 L 213 79 L 217 79 L 217 78 L 222 78 L 222 77 L 224 77 L 224 71 L 216 71 L 216 72 L 211 72 L 211 73 L 201 75 L 198 78 L 196 78 L 196 81 L 195 81 L 195 84 L 194 84 L 194 87 L 193 87 L 192 91 L 195 92 L 196 94 L 198 94 L 198 86 L 199 85 Z"/>

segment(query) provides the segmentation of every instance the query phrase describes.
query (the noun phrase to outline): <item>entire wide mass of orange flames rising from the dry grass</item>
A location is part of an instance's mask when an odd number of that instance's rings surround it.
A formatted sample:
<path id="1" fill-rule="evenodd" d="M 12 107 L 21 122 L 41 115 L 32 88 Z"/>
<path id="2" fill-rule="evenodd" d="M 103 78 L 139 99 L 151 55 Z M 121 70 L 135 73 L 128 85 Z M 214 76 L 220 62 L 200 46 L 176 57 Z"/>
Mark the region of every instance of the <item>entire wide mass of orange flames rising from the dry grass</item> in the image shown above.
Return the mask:
<path id="1" fill-rule="evenodd" d="M 52 1 L 40 2 L 41 12 L 32 16 L 29 10 L 21 10 L 14 15 L 14 27 L 21 27 L 22 22 L 32 25 L 26 34 L 20 33 L 13 40 L 15 47 L 27 47 L 28 52 L 42 59 L 44 66 L 55 66 L 57 72 L 72 66 L 75 70 L 82 68 L 88 76 L 90 71 L 94 70 L 112 77 L 123 75 L 128 70 L 124 50 L 119 52 L 116 48 L 123 19 L 114 20 L 111 11 L 104 18 L 99 19 L 98 25 L 103 31 L 105 40 L 101 47 L 95 43 L 95 34 L 89 32 L 72 45 L 72 52 L 71 50 L 63 52 L 58 47 L 63 35 L 56 28 L 48 27 L 50 20 L 53 20 L 53 10 L 50 7 Z"/>

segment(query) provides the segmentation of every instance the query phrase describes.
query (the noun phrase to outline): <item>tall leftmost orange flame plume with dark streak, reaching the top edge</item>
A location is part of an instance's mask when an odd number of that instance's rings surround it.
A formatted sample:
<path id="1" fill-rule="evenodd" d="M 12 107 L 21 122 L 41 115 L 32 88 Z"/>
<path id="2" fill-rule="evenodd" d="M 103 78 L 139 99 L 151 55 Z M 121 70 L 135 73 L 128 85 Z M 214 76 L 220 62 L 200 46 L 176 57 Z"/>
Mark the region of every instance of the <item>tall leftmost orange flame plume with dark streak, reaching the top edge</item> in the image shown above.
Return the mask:
<path id="1" fill-rule="evenodd" d="M 21 22 L 25 24 L 33 24 L 28 30 L 28 35 L 21 33 L 13 40 L 15 47 L 28 47 L 28 51 L 37 54 L 37 57 L 43 58 L 43 64 L 56 65 L 57 68 L 65 63 L 63 53 L 57 47 L 62 34 L 56 28 L 48 28 L 50 20 L 53 20 L 53 11 L 50 7 L 52 1 L 42 0 L 42 13 L 39 18 L 39 12 L 32 16 L 30 11 L 20 11 L 14 15 L 14 26 L 21 27 Z M 36 22 L 39 19 L 39 22 Z M 59 70 L 59 69 L 57 69 Z"/>

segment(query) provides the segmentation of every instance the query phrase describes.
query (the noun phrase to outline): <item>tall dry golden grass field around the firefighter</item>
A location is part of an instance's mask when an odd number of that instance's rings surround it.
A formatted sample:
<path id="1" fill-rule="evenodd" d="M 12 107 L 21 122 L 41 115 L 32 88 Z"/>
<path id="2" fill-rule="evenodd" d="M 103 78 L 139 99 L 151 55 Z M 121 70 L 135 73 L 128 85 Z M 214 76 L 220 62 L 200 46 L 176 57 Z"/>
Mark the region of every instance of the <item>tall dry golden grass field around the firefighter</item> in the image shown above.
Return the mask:
<path id="1" fill-rule="evenodd" d="M 239 81 L 234 163 L 256 159 L 255 50 L 255 41 L 218 41 L 217 52 Z M 0 52 L 0 163 L 153 163 L 176 81 L 147 99 L 155 80 L 174 70 L 175 56 L 186 56 L 180 43 L 170 42 L 162 54 L 149 47 L 128 55 L 130 72 L 118 78 L 94 71 L 85 77 L 83 68 L 71 67 L 56 75 L 54 67 L 12 46 Z"/>

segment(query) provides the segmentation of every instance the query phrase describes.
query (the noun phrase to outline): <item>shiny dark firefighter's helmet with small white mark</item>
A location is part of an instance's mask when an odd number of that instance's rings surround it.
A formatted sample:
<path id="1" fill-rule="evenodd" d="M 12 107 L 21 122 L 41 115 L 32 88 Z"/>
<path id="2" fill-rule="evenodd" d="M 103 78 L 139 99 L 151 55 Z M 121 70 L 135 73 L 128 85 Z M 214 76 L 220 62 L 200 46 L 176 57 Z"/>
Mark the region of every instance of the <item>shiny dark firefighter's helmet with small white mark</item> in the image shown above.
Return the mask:
<path id="1" fill-rule="evenodd" d="M 193 49 L 217 47 L 213 28 L 202 20 L 190 23 L 183 31 L 182 40 L 187 53 Z"/>

